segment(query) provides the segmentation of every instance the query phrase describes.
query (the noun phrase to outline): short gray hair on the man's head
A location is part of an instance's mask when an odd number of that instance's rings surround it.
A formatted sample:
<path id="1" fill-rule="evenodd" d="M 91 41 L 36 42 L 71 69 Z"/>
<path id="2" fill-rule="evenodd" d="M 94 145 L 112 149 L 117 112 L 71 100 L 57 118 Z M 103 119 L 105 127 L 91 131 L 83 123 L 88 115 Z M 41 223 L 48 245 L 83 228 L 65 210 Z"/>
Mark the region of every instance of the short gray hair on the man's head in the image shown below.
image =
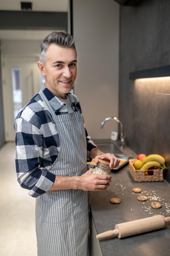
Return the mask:
<path id="1" fill-rule="evenodd" d="M 46 63 L 47 58 L 46 53 L 49 49 L 49 45 L 51 45 L 52 43 L 55 43 L 56 45 L 61 47 L 74 47 L 75 49 L 75 39 L 73 36 L 64 32 L 53 31 L 41 42 L 40 45 L 40 62 L 42 62 L 44 65 Z"/>

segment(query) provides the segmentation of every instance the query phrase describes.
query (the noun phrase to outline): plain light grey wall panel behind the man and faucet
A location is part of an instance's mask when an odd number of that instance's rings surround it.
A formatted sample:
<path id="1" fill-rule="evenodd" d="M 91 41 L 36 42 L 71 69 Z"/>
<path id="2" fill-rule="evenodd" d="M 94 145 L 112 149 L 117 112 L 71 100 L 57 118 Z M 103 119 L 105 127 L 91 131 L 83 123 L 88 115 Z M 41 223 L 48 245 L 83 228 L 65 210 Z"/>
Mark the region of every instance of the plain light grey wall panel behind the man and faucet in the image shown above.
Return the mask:
<path id="1" fill-rule="evenodd" d="M 88 134 L 109 138 L 117 130 L 119 100 L 119 4 L 114 0 L 73 0 L 73 34 L 77 49 L 75 94 Z"/>

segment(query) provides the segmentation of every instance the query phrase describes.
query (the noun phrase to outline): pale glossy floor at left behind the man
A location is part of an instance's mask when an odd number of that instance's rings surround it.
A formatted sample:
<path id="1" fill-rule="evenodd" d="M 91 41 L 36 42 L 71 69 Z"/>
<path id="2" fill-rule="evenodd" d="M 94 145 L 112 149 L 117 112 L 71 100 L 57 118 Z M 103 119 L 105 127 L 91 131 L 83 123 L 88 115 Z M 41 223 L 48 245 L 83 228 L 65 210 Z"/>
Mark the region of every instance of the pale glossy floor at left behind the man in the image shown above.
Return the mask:
<path id="1" fill-rule="evenodd" d="M 0 149 L 0 256 L 37 256 L 35 198 L 17 182 L 15 144 Z"/>

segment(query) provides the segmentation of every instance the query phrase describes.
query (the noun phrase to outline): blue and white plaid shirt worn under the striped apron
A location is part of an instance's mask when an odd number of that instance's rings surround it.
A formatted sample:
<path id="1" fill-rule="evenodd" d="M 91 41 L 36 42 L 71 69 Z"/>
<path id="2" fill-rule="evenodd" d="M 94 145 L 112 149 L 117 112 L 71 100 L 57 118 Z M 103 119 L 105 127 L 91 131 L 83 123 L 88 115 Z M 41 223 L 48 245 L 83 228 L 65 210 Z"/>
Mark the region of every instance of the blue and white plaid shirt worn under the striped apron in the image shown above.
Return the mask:
<path id="1" fill-rule="evenodd" d="M 43 85 L 43 92 L 54 108 L 56 115 L 60 112 L 62 104 Z M 82 110 L 77 97 L 68 93 L 74 111 Z M 55 180 L 55 175 L 48 169 L 53 165 L 60 150 L 60 139 L 56 133 L 55 123 L 47 110 L 40 94 L 36 94 L 29 103 L 18 113 L 15 124 L 16 132 L 16 171 L 18 182 L 22 188 L 29 189 L 29 194 L 38 197 L 48 191 Z M 84 125 L 85 128 L 85 125 Z M 93 141 L 87 141 L 87 160 L 92 148 L 96 147 Z"/>

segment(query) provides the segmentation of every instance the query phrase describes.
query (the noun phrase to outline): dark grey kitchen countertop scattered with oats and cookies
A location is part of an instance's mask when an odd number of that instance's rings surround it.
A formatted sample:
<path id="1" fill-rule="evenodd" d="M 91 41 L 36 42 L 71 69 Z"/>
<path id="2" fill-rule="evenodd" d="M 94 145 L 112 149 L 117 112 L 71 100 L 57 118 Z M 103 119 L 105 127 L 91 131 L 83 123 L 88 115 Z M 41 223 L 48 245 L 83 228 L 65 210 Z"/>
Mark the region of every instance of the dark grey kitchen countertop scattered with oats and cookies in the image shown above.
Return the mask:
<path id="1" fill-rule="evenodd" d="M 124 155 L 136 158 L 127 146 Z M 128 164 L 112 171 L 112 182 L 106 191 L 92 192 L 91 214 L 97 234 L 115 229 L 115 225 L 131 220 L 147 218 L 155 214 L 170 216 L 170 184 L 162 182 L 135 182 Z M 132 189 L 140 187 L 142 193 Z M 140 202 L 138 195 L 147 195 L 148 201 Z M 120 204 L 111 204 L 110 198 L 120 198 Z M 150 203 L 162 204 L 160 209 L 152 209 Z M 103 256 L 168 256 L 170 255 L 170 224 L 165 228 L 125 238 L 105 238 L 99 240 Z"/>

